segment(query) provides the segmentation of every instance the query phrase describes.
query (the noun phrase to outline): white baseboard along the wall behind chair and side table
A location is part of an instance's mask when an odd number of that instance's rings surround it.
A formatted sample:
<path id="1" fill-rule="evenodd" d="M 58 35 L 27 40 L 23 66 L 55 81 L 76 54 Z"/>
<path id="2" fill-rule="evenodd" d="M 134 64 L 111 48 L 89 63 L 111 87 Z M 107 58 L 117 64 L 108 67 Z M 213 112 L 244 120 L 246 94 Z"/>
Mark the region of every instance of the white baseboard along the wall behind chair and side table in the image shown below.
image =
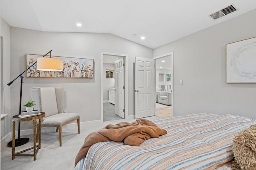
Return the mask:
<path id="1" fill-rule="evenodd" d="M 82 127 L 90 127 L 92 125 L 97 125 L 103 123 L 102 120 L 96 120 L 96 121 L 88 121 L 88 122 L 80 122 L 80 128 Z M 62 127 L 62 131 L 65 131 L 67 129 L 70 128 L 77 128 L 77 123 L 70 123 L 64 127 Z M 55 131 L 56 128 L 55 127 L 42 127 L 41 128 L 41 132 L 47 132 L 47 131 Z M 24 135 L 30 135 L 33 134 L 34 129 L 27 129 L 27 130 L 20 130 L 20 136 L 24 136 Z M 18 130 L 15 131 L 15 136 L 18 136 Z M 7 142 L 10 142 L 12 140 L 12 132 L 9 132 L 6 136 L 4 136 L 1 139 L 1 145 L 5 145 Z"/>

